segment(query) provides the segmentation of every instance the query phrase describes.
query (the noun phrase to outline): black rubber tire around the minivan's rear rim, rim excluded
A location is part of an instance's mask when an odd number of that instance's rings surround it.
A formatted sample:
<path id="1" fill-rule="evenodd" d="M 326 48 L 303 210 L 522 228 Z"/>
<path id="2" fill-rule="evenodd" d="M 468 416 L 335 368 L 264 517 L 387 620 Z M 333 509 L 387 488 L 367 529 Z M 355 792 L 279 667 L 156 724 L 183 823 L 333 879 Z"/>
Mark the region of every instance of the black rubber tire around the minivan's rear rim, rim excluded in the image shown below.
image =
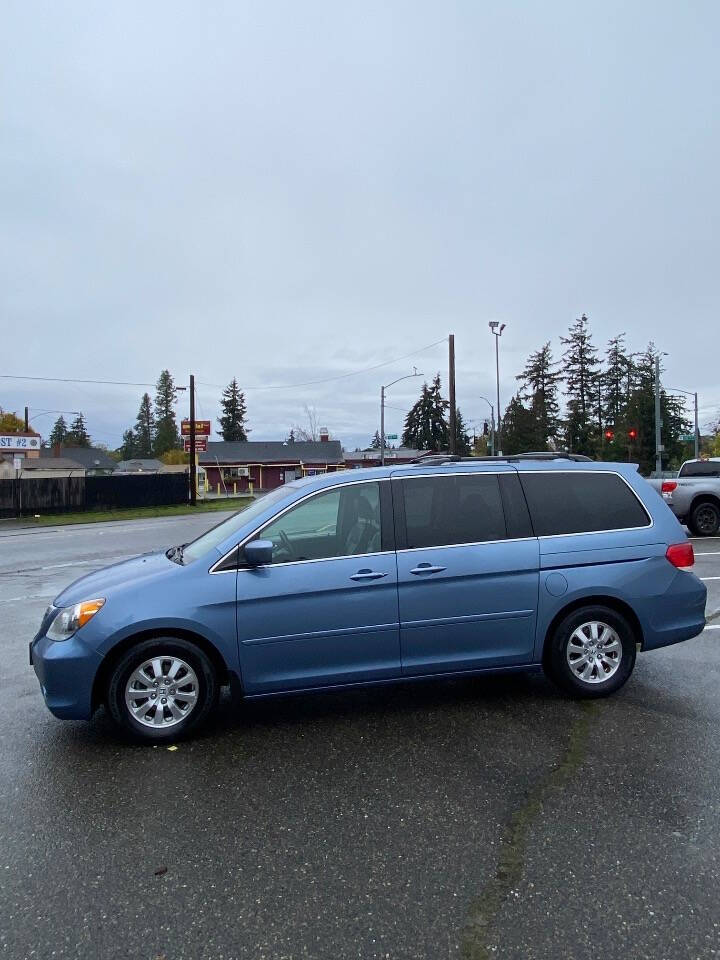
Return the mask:
<path id="1" fill-rule="evenodd" d="M 612 651 L 612 654 L 605 653 L 602 663 L 598 660 L 597 666 L 590 665 L 591 672 L 588 676 L 592 679 L 583 680 L 570 667 L 568 647 L 571 640 L 573 645 L 578 643 L 577 639 L 573 638 L 575 631 L 590 623 L 605 624 L 611 631 L 614 631 L 619 641 L 620 651 L 617 654 L 615 650 Z M 587 630 L 588 634 L 591 632 L 590 629 Z M 600 636 L 602 636 L 602 633 L 600 633 Z M 588 640 L 590 644 L 594 642 L 590 636 L 588 636 Z M 550 679 L 573 697 L 607 697 L 619 690 L 627 681 L 635 666 L 635 655 L 635 633 L 625 617 L 610 607 L 593 605 L 573 610 L 572 613 L 569 613 L 560 621 L 552 636 L 547 639 L 543 666 Z M 578 654 L 572 652 L 571 656 L 577 657 Z M 613 669 L 612 664 L 616 656 L 619 662 Z M 580 660 L 574 660 L 573 662 L 580 663 Z M 576 669 L 580 668 L 577 667 Z M 607 679 L 602 679 L 602 674 L 606 670 L 612 670 L 613 672 L 609 673 Z"/>

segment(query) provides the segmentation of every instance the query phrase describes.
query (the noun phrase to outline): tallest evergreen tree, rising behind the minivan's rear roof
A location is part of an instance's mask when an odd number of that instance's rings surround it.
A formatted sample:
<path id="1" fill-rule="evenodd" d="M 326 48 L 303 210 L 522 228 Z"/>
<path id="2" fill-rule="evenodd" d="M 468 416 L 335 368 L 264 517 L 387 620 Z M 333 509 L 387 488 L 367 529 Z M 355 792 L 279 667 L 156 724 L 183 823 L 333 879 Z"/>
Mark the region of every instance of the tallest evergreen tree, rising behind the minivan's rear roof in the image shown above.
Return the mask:
<path id="1" fill-rule="evenodd" d="M 566 347 L 563 354 L 567 396 L 565 441 L 573 453 L 592 456 L 599 443 L 599 418 L 596 418 L 599 366 L 585 314 L 570 327 L 568 336 L 560 340 Z"/>

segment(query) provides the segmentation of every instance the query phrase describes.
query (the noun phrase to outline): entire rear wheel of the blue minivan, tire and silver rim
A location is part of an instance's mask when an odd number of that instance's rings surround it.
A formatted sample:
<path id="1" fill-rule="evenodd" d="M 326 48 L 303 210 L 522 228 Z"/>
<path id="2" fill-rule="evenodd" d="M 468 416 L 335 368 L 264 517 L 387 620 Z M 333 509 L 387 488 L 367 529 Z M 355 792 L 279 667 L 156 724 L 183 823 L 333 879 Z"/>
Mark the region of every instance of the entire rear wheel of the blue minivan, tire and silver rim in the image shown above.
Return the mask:
<path id="1" fill-rule="evenodd" d="M 609 607 L 573 610 L 555 628 L 545 654 L 545 670 L 576 697 L 605 697 L 618 690 L 635 666 L 635 634 Z"/>

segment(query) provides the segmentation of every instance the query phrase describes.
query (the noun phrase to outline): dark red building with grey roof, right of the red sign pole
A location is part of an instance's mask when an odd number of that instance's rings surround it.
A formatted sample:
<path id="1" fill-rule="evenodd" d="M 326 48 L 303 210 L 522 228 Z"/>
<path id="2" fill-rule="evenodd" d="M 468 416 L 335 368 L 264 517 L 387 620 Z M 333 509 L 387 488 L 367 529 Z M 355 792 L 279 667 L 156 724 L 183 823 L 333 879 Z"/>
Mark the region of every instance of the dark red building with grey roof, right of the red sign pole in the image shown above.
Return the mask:
<path id="1" fill-rule="evenodd" d="M 288 443 L 265 440 L 208 443 L 199 455 L 211 493 L 247 493 L 249 490 L 274 490 L 299 477 L 342 470 L 342 444 L 339 440 Z"/>

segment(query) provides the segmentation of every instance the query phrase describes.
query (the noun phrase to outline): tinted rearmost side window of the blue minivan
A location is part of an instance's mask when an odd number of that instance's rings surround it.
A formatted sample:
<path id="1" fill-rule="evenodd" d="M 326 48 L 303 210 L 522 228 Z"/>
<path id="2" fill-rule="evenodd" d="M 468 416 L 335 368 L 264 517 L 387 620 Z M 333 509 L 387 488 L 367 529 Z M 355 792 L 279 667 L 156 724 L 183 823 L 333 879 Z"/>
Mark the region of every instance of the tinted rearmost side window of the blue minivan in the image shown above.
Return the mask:
<path id="1" fill-rule="evenodd" d="M 616 473 L 521 473 L 520 479 L 539 537 L 650 524 L 645 508 Z"/>

